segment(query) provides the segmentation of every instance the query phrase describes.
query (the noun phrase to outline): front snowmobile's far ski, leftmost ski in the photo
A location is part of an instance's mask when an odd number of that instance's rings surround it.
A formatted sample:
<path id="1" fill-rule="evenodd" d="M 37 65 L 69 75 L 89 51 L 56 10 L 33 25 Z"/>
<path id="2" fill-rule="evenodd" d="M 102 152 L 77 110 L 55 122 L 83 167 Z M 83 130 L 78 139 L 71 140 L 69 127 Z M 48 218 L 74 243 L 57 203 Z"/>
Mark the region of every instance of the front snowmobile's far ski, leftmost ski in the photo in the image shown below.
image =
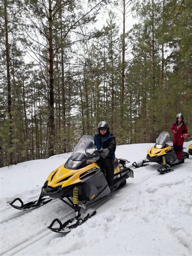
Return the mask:
<path id="1" fill-rule="evenodd" d="M 36 209 L 38 207 L 41 207 L 42 205 L 46 205 L 47 203 L 51 202 L 53 198 L 43 198 L 43 196 L 40 196 L 37 201 L 32 201 L 29 203 L 24 204 L 21 198 L 15 198 L 11 203 L 9 203 L 12 207 L 18 210 L 24 210 L 29 211 L 32 209 Z M 13 205 L 16 201 L 19 201 L 21 203 L 21 206 Z"/>

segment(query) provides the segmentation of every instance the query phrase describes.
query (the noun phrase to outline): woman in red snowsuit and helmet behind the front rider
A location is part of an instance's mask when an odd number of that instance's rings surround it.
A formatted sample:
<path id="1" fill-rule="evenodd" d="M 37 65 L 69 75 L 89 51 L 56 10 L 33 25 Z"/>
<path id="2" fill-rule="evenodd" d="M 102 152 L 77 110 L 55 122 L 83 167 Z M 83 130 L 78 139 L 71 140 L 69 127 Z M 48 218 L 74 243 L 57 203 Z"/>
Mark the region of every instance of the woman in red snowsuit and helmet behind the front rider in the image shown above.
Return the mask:
<path id="1" fill-rule="evenodd" d="M 171 133 L 173 133 L 173 147 L 177 154 L 179 162 L 184 162 L 182 159 L 182 149 L 184 138 L 188 137 L 188 130 L 186 124 L 183 122 L 183 114 L 176 115 L 177 121 L 171 126 Z"/>

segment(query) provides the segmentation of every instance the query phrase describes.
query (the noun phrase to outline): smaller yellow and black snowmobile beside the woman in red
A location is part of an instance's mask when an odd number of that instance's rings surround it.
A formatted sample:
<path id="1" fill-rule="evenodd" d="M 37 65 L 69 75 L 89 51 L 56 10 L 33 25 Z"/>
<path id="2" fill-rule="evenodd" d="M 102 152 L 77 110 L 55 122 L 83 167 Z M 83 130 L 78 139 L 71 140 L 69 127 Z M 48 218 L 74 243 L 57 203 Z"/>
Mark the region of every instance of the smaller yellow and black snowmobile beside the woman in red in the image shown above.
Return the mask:
<path id="1" fill-rule="evenodd" d="M 145 164 L 147 162 L 156 162 L 164 167 L 164 169 L 162 169 L 162 167 L 159 167 L 157 169 L 159 173 L 165 174 L 174 171 L 171 166 L 183 163 L 184 158 L 189 158 L 189 156 L 187 152 L 183 151 L 183 159 L 181 162 L 179 162 L 173 146 L 169 145 L 168 143 L 172 143 L 172 140 L 169 137 L 169 132 L 161 132 L 156 139 L 156 144 L 154 145 L 154 147 L 151 147 L 147 151 L 146 159 L 143 160 L 141 164 L 133 162 L 132 166 L 138 168 L 148 165 Z"/>

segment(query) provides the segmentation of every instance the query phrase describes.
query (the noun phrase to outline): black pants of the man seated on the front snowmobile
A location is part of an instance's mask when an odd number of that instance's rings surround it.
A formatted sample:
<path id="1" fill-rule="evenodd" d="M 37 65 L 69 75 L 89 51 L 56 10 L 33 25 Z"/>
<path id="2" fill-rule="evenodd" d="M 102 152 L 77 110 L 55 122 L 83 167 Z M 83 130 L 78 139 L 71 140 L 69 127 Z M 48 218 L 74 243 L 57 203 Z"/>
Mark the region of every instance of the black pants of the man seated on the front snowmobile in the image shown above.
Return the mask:
<path id="1" fill-rule="evenodd" d="M 106 179 L 109 186 L 113 186 L 114 167 L 113 158 L 104 158 L 100 160 L 100 168 L 102 171 L 105 169 Z"/>

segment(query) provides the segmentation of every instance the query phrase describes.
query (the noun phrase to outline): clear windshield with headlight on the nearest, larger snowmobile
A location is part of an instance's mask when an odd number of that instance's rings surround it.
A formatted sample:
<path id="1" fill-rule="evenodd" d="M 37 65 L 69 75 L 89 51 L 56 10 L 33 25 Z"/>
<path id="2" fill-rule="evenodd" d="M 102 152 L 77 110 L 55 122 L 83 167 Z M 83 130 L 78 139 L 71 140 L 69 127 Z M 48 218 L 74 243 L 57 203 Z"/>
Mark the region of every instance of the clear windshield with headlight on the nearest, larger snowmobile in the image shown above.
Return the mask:
<path id="1" fill-rule="evenodd" d="M 96 162 L 100 158 L 95 149 L 94 137 L 84 134 L 74 147 L 73 153 L 67 160 L 65 167 L 69 169 L 79 169 L 83 166 Z"/>

